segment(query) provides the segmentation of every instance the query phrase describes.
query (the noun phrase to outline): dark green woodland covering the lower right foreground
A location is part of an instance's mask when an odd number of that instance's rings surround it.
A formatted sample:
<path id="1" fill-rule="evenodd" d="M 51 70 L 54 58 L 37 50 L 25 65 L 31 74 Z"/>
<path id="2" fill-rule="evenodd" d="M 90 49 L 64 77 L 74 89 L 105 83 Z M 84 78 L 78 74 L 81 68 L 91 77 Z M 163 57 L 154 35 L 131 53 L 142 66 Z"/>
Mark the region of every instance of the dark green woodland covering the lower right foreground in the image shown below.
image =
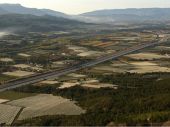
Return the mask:
<path id="1" fill-rule="evenodd" d="M 97 79 L 100 79 L 100 82 L 103 82 L 100 84 L 110 86 L 110 84 L 114 82 L 116 85 L 113 85 L 114 89 L 102 87 L 97 89 L 87 89 L 87 87 L 81 86 L 74 86 L 67 89 L 56 89 L 56 87 L 51 86 L 51 89 L 49 90 L 46 89 L 49 88 L 47 86 L 27 86 L 17 90 L 34 93 L 49 93 L 52 90 L 51 93 L 53 93 L 55 96 L 60 95 L 77 101 L 82 108 L 87 110 L 84 115 L 54 115 L 35 117 L 24 121 L 16 121 L 15 125 L 25 125 L 26 123 L 30 122 L 32 122 L 31 125 L 34 125 L 33 123 L 37 123 L 37 121 L 39 121 L 38 123 L 40 124 L 42 121 L 48 121 L 49 119 L 55 124 L 56 121 L 58 122 L 58 120 L 61 120 L 60 125 L 65 126 L 69 125 L 69 123 L 65 121 L 71 121 L 74 125 L 96 125 L 96 123 L 98 125 L 108 125 L 111 123 L 111 121 L 114 121 L 114 125 L 122 125 L 122 123 L 128 123 L 129 119 L 131 122 L 128 124 L 150 125 L 151 122 L 153 122 L 157 125 L 162 125 L 165 124 L 165 122 L 169 119 L 169 107 L 167 106 L 169 104 L 169 99 L 166 99 L 169 97 L 168 73 L 126 73 L 109 75 L 92 74 L 91 76 L 96 76 Z M 95 84 L 97 85 L 97 83 L 99 83 L 99 81 L 96 79 L 86 81 L 86 83 L 90 82 L 93 83 L 94 86 Z M 151 99 L 153 100 L 153 105 L 150 106 L 151 109 L 148 109 L 147 107 L 150 105 L 150 102 L 148 101 L 150 98 L 153 98 Z M 164 109 L 167 111 L 157 111 Z M 115 115 L 113 114 L 116 114 L 117 111 L 122 112 L 122 110 L 123 114 L 121 117 L 118 115 L 115 118 Z M 139 111 L 141 112 L 140 114 L 138 113 Z M 108 114 L 110 117 L 107 117 Z M 103 119 L 100 119 L 101 117 Z M 148 117 L 151 117 L 152 121 L 148 121 L 146 123 Z M 79 123 L 77 123 L 77 121 L 79 121 Z"/>

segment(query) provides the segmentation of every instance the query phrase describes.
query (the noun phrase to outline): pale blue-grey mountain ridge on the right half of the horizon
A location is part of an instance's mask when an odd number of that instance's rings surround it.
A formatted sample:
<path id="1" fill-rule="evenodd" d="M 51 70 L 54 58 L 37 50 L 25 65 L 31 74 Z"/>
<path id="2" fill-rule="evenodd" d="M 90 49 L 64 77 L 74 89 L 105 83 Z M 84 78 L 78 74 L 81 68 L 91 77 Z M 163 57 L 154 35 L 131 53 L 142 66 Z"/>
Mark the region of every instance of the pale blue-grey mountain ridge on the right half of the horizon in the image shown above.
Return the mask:
<path id="1" fill-rule="evenodd" d="M 81 16 L 96 19 L 99 22 L 169 21 L 170 8 L 108 9 L 87 12 Z"/>

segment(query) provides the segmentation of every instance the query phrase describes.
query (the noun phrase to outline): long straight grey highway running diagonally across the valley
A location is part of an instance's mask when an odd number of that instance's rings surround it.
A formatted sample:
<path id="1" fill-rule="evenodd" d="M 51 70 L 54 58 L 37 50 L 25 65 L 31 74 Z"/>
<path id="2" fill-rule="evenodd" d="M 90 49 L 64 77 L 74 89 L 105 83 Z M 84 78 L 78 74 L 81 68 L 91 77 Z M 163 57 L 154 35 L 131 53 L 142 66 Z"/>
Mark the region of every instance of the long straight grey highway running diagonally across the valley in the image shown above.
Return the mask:
<path id="1" fill-rule="evenodd" d="M 27 77 L 27 78 L 14 80 L 14 81 L 8 82 L 6 84 L 0 85 L 0 92 L 5 91 L 5 90 L 9 90 L 9 89 L 13 89 L 13 88 L 17 88 L 17 87 L 20 87 L 20 86 L 24 86 L 24 85 L 34 84 L 34 83 L 37 83 L 37 82 L 40 82 L 40 81 L 43 81 L 43 80 L 47 80 L 47 79 L 51 79 L 51 78 L 55 78 L 55 77 L 58 77 L 58 76 L 62 76 L 62 75 L 65 75 L 65 74 L 68 74 L 68 73 L 71 73 L 71 72 L 78 71 L 80 69 L 92 67 L 92 66 L 97 65 L 99 63 L 102 63 L 102 62 L 105 62 L 105 61 L 108 61 L 108 60 L 112 60 L 112 59 L 116 59 L 118 57 L 133 53 L 135 51 L 139 51 L 139 50 L 147 48 L 147 47 L 159 45 L 159 44 L 161 44 L 165 41 L 166 41 L 166 39 L 163 38 L 163 39 L 161 39 L 160 41 L 157 41 L 157 42 L 140 44 L 140 45 L 136 45 L 136 46 L 130 47 L 128 49 L 125 49 L 123 51 L 108 54 L 107 56 L 102 56 L 100 58 L 89 61 L 87 63 L 74 65 L 74 66 L 71 66 L 71 67 L 68 67 L 68 68 L 65 68 L 65 69 L 62 69 L 62 70 L 57 70 L 57 71 L 54 70 L 54 71 L 30 76 L 30 77 Z"/>

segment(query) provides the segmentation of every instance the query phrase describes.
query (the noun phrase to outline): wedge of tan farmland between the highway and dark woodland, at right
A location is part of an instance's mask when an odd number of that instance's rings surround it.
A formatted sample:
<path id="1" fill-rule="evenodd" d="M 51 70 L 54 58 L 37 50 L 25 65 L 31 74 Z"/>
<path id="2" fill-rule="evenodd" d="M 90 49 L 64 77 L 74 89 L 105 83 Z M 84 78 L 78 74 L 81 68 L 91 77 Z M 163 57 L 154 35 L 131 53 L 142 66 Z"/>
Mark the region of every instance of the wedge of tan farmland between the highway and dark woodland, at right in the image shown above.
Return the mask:
<path id="1" fill-rule="evenodd" d="M 92 67 L 88 71 L 91 73 L 169 73 L 170 54 L 167 51 L 168 44 L 164 44 L 161 49 L 145 49 L 140 53 L 132 53 L 114 61 L 102 63 Z"/>

